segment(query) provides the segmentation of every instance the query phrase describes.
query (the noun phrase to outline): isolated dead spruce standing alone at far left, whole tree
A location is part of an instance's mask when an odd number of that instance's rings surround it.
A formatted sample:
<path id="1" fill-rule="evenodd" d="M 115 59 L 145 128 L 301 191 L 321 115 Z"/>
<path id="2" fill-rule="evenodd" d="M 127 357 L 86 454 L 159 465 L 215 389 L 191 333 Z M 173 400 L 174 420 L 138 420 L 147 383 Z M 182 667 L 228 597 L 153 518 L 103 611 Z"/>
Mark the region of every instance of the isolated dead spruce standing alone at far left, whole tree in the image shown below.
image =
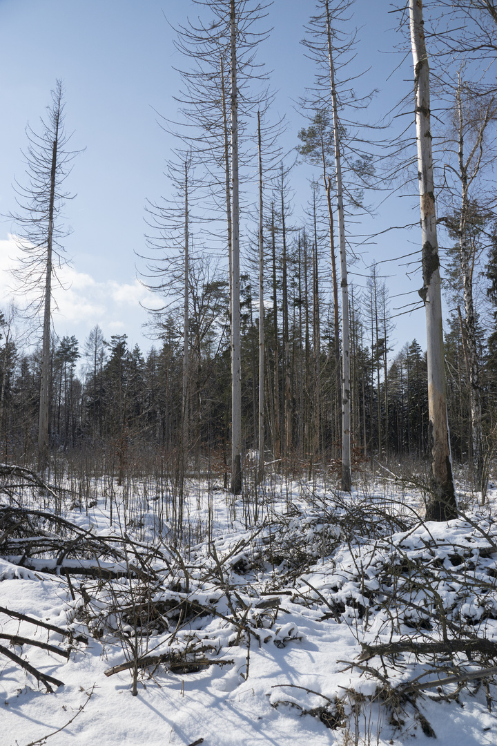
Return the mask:
<path id="1" fill-rule="evenodd" d="M 22 251 L 20 272 L 22 292 L 32 298 L 28 311 L 42 315 L 42 357 L 39 386 L 38 457 L 39 469 L 48 466 L 48 409 L 50 377 L 50 329 L 52 289 L 57 268 L 65 262 L 60 239 L 67 233 L 60 222 L 64 202 L 69 198 L 61 189 L 70 172 L 68 164 L 77 151 L 66 150 L 62 81 L 51 91 L 48 116 L 41 119 L 41 134 L 28 125 L 28 148 L 24 153 L 27 184 L 16 182 L 18 210 L 10 213 L 16 223 L 16 243 Z"/>

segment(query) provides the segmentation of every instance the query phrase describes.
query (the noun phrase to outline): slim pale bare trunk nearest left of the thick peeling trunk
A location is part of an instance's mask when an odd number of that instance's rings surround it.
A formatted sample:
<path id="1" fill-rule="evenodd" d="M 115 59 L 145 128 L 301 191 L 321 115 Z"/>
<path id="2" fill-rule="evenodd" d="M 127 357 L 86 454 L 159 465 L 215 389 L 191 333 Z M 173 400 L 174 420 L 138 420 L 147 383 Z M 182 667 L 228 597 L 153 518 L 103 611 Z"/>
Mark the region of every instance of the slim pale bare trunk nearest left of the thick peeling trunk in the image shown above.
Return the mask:
<path id="1" fill-rule="evenodd" d="M 350 492 L 350 354 L 349 354 L 349 282 L 347 278 L 344 188 L 342 185 L 340 128 L 338 124 L 338 102 L 335 88 L 335 66 L 333 65 L 332 28 L 329 2 L 326 0 L 326 25 L 328 32 L 329 82 L 332 90 L 333 136 L 335 139 L 335 171 L 337 179 L 338 245 L 340 247 L 341 295 L 342 295 L 342 477 L 341 489 Z"/>

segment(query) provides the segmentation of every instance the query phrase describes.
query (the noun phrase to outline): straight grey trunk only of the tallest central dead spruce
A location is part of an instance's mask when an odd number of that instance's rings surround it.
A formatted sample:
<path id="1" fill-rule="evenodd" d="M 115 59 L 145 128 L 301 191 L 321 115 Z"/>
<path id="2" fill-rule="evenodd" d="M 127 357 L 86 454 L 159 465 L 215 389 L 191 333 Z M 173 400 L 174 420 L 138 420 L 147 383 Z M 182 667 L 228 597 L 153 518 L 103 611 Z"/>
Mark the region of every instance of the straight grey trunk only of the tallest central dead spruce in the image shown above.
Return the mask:
<path id="1" fill-rule="evenodd" d="M 231 178 L 232 178 L 232 260 L 231 260 L 231 489 L 241 493 L 241 339 L 240 339 L 240 205 L 238 196 L 238 90 L 236 87 L 235 0 L 230 0 L 231 30 Z"/>

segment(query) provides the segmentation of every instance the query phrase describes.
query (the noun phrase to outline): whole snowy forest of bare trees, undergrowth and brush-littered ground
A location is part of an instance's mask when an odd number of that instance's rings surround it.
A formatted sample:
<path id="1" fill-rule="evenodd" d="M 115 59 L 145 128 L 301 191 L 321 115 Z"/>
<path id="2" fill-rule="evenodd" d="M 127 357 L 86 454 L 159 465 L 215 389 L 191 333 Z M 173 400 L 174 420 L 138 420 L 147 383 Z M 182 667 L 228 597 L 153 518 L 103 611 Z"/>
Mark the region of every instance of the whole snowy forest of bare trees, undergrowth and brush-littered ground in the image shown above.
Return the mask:
<path id="1" fill-rule="evenodd" d="M 0 310 L 6 746 L 496 742 L 497 6 L 392 6 L 411 79 L 373 122 L 355 4 L 310 9 L 290 137 L 264 2 L 191 0 L 174 28 L 147 351 L 57 335 L 62 80 L 26 130 Z M 399 194 L 410 242 L 385 258 Z M 405 267 L 422 286 L 391 293 Z"/>

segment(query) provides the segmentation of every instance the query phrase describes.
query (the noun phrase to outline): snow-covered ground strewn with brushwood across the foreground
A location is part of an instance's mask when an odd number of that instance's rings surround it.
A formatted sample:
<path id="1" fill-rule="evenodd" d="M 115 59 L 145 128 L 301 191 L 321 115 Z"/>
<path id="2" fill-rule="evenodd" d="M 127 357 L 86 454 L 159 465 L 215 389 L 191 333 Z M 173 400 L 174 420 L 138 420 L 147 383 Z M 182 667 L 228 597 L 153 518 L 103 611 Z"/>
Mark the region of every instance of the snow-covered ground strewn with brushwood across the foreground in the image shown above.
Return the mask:
<path id="1" fill-rule="evenodd" d="M 71 642 L 69 658 L 9 648 L 63 682 L 53 693 L 0 656 L 0 746 L 47 736 L 51 746 L 397 746 L 434 736 L 444 746 L 496 745 L 490 673 L 422 688 L 497 657 L 496 500 L 493 490 L 484 509 L 470 502 L 466 517 L 423 524 L 420 496 L 393 480 L 349 497 L 276 479 L 247 528 L 247 500 L 192 485 L 186 515 L 205 536 L 189 548 L 168 544 L 167 521 L 161 540 L 158 501 L 132 522 L 117 497 L 112 527 L 104 498 L 87 515 L 67 510 L 118 548 L 106 567 L 137 567 L 136 543 L 125 542 L 133 532 L 147 559 L 134 580 L 73 576 L 74 599 L 66 577 L 37 569 L 42 560 L 0 560 L 1 607 L 88 638 Z M 5 613 L 0 633 L 69 645 Z M 437 641 L 452 654 L 431 651 Z M 379 648 L 392 644 L 395 656 Z M 162 656 L 140 668 L 135 697 L 130 668 L 107 675 L 133 645 L 137 656 Z"/>

